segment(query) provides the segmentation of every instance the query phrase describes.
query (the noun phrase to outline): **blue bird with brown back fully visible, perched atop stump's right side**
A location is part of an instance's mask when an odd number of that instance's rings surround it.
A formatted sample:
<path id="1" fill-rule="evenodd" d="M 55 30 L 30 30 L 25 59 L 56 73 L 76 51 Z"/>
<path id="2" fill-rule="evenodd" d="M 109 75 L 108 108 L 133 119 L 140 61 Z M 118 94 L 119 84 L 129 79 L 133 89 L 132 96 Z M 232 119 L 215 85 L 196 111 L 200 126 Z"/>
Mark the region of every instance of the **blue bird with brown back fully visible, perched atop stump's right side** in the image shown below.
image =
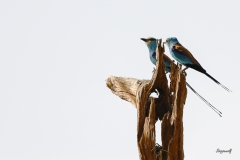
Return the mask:
<path id="1" fill-rule="evenodd" d="M 213 78 L 210 74 L 208 74 L 207 71 L 201 66 L 201 64 L 193 57 L 191 52 L 188 51 L 184 46 L 182 46 L 179 43 L 176 37 L 167 38 L 164 43 L 167 44 L 171 56 L 176 61 L 186 66 L 186 68 L 183 69 L 183 71 L 185 71 L 188 68 L 192 68 L 198 72 L 205 74 L 207 77 L 212 79 L 215 83 L 220 85 L 222 88 L 224 88 L 228 92 L 232 92 L 230 89 L 228 89 L 227 87 L 222 85 L 219 81 L 217 81 L 215 78 Z"/>

